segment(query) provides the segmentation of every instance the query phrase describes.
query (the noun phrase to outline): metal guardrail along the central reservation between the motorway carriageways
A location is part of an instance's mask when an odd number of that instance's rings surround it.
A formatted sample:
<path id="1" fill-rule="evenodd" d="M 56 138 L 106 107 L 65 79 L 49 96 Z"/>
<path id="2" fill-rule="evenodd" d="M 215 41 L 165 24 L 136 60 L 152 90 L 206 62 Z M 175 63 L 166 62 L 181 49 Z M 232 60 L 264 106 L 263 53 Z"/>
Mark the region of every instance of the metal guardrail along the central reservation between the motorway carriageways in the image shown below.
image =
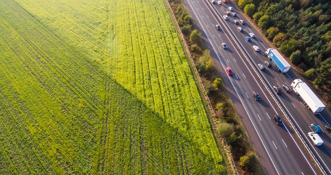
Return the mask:
<path id="1" fill-rule="evenodd" d="M 261 80 L 261 82 L 263 83 L 263 85 L 265 86 L 265 88 L 267 89 L 267 91 L 269 92 L 269 94 L 272 96 L 272 98 L 274 99 L 274 101 L 276 102 L 276 104 L 278 105 L 278 107 L 280 108 L 280 110 L 283 112 L 283 114 L 286 116 L 288 122 L 290 123 L 290 125 L 292 126 L 293 130 L 295 131 L 296 135 L 300 138 L 301 142 L 303 143 L 303 145 L 305 146 L 306 150 L 308 151 L 308 153 L 310 154 L 310 156 L 313 158 L 313 160 L 315 161 L 315 163 L 317 164 L 317 166 L 319 167 L 319 169 L 321 170 L 321 172 L 323 174 L 326 174 L 324 168 L 321 166 L 321 164 L 319 163 L 319 161 L 317 160 L 317 158 L 315 157 L 314 153 L 311 151 L 311 149 L 308 147 L 308 144 L 304 141 L 303 137 L 301 136 L 301 134 L 299 133 L 299 131 L 297 130 L 297 128 L 295 127 L 295 125 L 293 124 L 292 120 L 289 118 L 289 116 L 287 115 L 286 111 L 283 109 L 283 107 L 280 105 L 280 103 L 278 102 L 278 100 L 276 99 L 276 97 L 274 96 L 274 94 L 271 92 L 270 88 L 268 87 L 268 85 L 266 84 L 266 82 L 264 81 L 264 79 L 261 77 L 261 75 L 258 73 L 258 71 L 256 70 L 256 68 L 254 67 L 252 61 L 250 60 L 250 58 L 246 55 L 246 53 L 244 52 L 244 50 L 242 49 L 242 46 L 237 42 L 237 40 L 235 39 L 234 35 L 232 32 L 230 32 L 229 28 L 226 26 L 226 24 L 224 23 L 224 21 L 222 20 L 222 17 L 215 11 L 215 7 L 213 7 L 209 0 L 205 0 L 207 2 L 207 4 L 209 5 L 210 9 L 214 12 L 214 14 L 217 16 L 217 18 L 219 19 L 219 21 L 223 24 L 223 26 L 225 27 L 225 29 L 227 30 L 227 32 L 230 34 L 231 38 L 233 39 L 233 41 L 236 43 L 236 45 L 238 46 L 238 48 L 240 49 L 240 51 L 242 52 L 242 54 L 244 55 L 244 57 L 246 58 L 246 60 L 248 61 L 248 63 L 250 64 L 250 66 L 252 67 L 252 69 L 254 70 L 254 72 L 256 73 L 256 75 L 259 77 L 259 79 Z"/>

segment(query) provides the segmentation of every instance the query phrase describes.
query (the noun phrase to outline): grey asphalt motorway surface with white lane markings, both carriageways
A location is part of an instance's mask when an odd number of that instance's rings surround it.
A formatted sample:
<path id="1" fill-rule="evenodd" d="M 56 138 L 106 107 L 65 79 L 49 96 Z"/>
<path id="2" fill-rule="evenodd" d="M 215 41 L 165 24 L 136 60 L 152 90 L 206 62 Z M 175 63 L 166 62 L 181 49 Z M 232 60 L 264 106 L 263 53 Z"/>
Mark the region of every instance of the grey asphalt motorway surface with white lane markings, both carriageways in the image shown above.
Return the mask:
<path id="1" fill-rule="evenodd" d="M 272 116 L 275 114 L 281 115 L 278 109 L 275 108 L 271 95 L 261 85 L 262 83 L 256 75 L 253 73 L 252 68 L 242 57 L 238 47 L 233 44 L 228 32 L 224 31 L 224 26 L 221 24 L 220 18 L 215 16 L 215 13 L 210 11 L 210 5 L 207 1 L 198 0 L 184 0 L 183 1 L 189 13 L 191 14 L 198 31 L 202 34 L 206 47 L 210 50 L 213 61 L 216 65 L 218 72 L 221 74 L 225 85 L 230 93 L 230 96 L 241 116 L 241 119 L 247 129 L 254 146 L 260 156 L 268 174 L 317 174 L 318 171 L 313 167 L 313 163 L 309 160 L 304 150 L 301 148 L 299 142 L 295 139 L 295 134 L 289 129 L 287 124 L 278 126 L 275 124 Z M 225 22 L 229 30 L 236 37 L 237 42 L 245 50 L 246 54 L 251 58 L 253 64 L 256 66 L 258 63 L 263 63 L 268 60 L 264 51 L 270 46 L 263 41 L 263 38 L 250 26 L 248 21 L 246 25 L 235 25 L 232 20 L 240 20 L 243 16 L 237 8 L 229 3 L 228 5 L 217 6 L 211 5 L 220 16 L 225 15 L 227 8 L 232 6 L 234 11 L 238 14 L 238 17 L 229 16 L 229 20 Z M 215 25 L 219 24 L 223 29 L 217 31 Z M 243 33 L 237 31 L 237 27 L 244 29 Z M 248 33 L 253 31 L 257 36 L 250 42 L 245 41 L 245 37 Z M 262 41 L 261 41 L 262 40 Z M 228 45 L 228 49 L 222 48 L 222 43 Z M 255 52 L 252 46 L 257 45 L 262 52 Z M 229 76 L 225 69 L 231 67 L 234 75 Z M 259 74 L 264 78 L 269 88 L 271 86 L 279 84 L 288 84 L 295 79 L 296 76 L 293 71 L 289 71 L 288 74 L 281 74 L 273 68 L 270 68 L 263 72 L 259 71 Z M 256 91 L 260 94 L 262 100 L 255 101 L 252 97 L 252 92 Z M 295 93 L 282 93 L 276 95 L 283 108 L 289 114 L 291 120 L 298 128 L 299 132 L 303 136 L 304 140 L 309 145 L 310 149 L 314 152 L 319 162 L 322 164 L 324 170 L 330 173 L 331 167 L 331 152 L 330 152 L 330 137 L 322 132 L 319 134 L 324 141 L 324 144 L 320 147 L 312 145 L 312 142 L 307 138 L 307 132 L 310 132 L 310 123 L 317 123 L 321 127 L 329 123 L 325 118 L 329 118 L 327 113 L 314 116 L 303 105 L 302 101 Z M 300 103 L 301 102 L 301 103 Z M 283 120 L 286 120 L 283 118 Z"/>

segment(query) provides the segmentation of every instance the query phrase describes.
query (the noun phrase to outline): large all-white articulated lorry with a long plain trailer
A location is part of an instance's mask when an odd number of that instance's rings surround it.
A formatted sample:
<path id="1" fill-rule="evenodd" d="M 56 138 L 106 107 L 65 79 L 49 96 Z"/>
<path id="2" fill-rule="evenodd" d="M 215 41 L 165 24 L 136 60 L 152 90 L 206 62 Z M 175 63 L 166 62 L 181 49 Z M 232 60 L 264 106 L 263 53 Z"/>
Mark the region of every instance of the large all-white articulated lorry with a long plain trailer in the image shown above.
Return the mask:
<path id="1" fill-rule="evenodd" d="M 291 88 L 300 96 L 306 107 L 308 107 L 308 109 L 314 114 L 320 113 L 325 108 L 325 105 L 319 100 L 314 92 L 312 92 L 309 86 L 300 79 L 293 80 Z"/>

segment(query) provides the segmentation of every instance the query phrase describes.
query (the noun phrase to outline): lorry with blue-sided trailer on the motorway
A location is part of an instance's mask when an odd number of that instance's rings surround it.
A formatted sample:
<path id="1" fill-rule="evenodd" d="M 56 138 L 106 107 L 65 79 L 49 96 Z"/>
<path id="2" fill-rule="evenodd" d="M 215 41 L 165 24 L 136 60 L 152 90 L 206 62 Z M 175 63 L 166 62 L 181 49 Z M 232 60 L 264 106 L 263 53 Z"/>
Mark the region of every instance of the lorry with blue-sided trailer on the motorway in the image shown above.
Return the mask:
<path id="1" fill-rule="evenodd" d="M 273 48 L 267 49 L 265 52 L 271 62 L 274 64 L 275 68 L 279 70 L 281 73 L 285 73 L 290 70 L 290 64 L 280 55 L 280 53 Z"/>

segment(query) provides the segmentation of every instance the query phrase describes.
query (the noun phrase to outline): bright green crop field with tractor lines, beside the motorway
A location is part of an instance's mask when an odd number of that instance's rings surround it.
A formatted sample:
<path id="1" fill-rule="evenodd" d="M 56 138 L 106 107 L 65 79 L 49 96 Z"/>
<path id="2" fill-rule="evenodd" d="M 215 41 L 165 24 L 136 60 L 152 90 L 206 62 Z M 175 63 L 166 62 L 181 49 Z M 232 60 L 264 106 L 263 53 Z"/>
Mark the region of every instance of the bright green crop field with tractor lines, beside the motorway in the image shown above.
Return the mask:
<path id="1" fill-rule="evenodd" d="M 0 1 L 0 174 L 224 174 L 162 0 Z"/>

